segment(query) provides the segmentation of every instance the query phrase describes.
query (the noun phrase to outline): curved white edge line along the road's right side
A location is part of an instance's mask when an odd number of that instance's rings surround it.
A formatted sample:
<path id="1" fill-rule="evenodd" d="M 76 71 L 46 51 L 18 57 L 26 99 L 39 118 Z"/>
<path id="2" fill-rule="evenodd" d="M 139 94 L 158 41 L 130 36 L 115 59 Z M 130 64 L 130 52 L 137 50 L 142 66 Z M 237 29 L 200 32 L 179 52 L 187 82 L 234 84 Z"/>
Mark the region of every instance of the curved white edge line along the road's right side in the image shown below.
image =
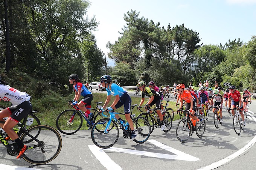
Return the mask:
<path id="1" fill-rule="evenodd" d="M 248 112 L 252 113 L 251 111 L 248 110 Z M 254 120 L 254 122 L 256 122 L 256 118 L 251 115 L 250 113 L 248 113 Z M 245 151 L 247 151 L 248 149 L 250 149 L 254 144 L 256 143 L 256 136 L 254 136 L 254 138 L 252 140 L 250 140 L 244 147 L 242 147 L 241 149 L 239 149 L 238 151 L 236 151 L 235 153 L 227 156 L 224 159 L 221 159 L 220 161 L 214 162 L 210 165 L 207 165 L 205 167 L 199 168 L 198 170 L 211 170 L 211 169 L 215 169 L 223 164 L 226 164 L 227 162 L 231 161 L 232 159 L 236 158 L 237 156 L 241 155 L 242 153 L 244 153 Z"/>

